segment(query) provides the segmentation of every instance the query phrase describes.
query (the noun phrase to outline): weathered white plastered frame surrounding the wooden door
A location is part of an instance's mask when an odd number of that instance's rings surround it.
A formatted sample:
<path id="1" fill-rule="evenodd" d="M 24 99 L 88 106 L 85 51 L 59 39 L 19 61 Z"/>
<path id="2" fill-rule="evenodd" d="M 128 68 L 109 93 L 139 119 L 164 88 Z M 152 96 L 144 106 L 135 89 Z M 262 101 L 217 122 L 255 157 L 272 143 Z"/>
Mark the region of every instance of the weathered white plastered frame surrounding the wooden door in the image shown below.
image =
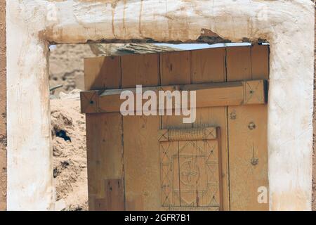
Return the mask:
<path id="1" fill-rule="evenodd" d="M 8 210 L 53 209 L 46 41 L 270 42 L 270 210 L 310 210 L 314 5 L 310 0 L 7 1 Z"/>

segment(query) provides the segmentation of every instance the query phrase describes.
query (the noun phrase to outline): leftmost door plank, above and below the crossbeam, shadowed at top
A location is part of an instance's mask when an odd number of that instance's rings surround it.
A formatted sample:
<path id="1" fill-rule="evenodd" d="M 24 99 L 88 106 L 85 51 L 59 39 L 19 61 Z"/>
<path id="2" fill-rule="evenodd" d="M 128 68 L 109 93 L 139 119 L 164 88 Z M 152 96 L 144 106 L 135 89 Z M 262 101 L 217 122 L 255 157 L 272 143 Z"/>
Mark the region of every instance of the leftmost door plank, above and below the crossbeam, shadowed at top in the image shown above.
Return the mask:
<path id="1" fill-rule="evenodd" d="M 113 89 L 121 85 L 119 57 L 86 58 L 84 72 L 86 90 Z M 91 100 L 88 103 L 90 104 Z M 112 207 L 107 202 L 105 181 L 124 179 L 121 136 L 119 113 L 86 115 L 89 210 L 107 210 Z M 112 202 L 121 203 L 124 198 L 124 186 L 112 186 L 112 191 L 116 193 L 112 195 Z"/>

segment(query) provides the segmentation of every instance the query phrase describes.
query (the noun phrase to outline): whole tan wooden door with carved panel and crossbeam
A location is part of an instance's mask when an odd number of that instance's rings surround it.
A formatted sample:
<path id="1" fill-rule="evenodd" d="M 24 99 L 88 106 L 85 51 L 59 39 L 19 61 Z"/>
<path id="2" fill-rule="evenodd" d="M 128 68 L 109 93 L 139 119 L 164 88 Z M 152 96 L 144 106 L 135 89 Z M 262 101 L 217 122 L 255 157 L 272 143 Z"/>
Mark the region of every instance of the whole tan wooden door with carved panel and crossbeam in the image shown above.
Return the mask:
<path id="1" fill-rule="evenodd" d="M 89 210 L 268 210 L 257 200 L 258 188 L 268 188 L 268 46 L 87 58 L 84 65 Z M 122 116 L 117 91 L 136 84 L 197 90 L 195 122 Z"/>

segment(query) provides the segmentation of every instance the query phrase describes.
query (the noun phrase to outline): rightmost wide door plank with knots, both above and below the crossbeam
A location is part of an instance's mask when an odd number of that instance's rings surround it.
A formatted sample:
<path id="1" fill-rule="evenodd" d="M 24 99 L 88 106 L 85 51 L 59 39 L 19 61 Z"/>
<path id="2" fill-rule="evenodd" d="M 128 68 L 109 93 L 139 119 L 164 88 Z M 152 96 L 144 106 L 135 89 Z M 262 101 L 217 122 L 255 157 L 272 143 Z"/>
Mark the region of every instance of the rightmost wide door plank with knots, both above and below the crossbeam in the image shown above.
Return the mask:
<path id="1" fill-rule="evenodd" d="M 243 48 L 227 49 L 228 81 L 252 79 L 251 70 L 263 71 L 251 64 L 251 49 Z M 257 201 L 258 188 L 268 188 L 266 126 L 267 105 L 228 107 L 231 210 L 268 210 L 268 204 Z"/>

